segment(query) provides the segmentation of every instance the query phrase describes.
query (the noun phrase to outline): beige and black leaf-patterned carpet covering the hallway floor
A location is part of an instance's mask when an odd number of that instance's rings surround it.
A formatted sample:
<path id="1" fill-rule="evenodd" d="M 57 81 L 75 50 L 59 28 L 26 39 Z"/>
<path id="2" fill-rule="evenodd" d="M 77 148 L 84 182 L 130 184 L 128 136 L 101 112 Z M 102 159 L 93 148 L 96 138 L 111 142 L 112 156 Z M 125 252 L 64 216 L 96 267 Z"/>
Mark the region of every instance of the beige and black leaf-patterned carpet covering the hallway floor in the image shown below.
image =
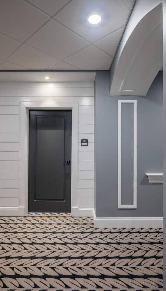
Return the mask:
<path id="1" fill-rule="evenodd" d="M 70 214 L 0 217 L 0 290 L 162 290 L 162 229 Z"/>

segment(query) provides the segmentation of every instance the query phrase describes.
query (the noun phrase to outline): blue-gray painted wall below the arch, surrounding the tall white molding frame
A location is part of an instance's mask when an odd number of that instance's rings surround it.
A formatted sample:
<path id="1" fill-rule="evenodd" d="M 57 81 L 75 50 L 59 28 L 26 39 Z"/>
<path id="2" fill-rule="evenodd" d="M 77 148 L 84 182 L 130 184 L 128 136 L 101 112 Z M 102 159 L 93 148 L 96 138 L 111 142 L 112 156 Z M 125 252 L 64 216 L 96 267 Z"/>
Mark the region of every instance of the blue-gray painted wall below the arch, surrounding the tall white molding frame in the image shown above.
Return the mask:
<path id="1" fill-rule="evenodd" d="M 108 71 L 98 71 L 95 80 L 95 139 L 97 142 L 95 140 L 94 197 L 96 216 L 161 217 L 163 185 L 149 184 L 145 173 L 163 172 L 162 72 L 156 76 L 146 97 L 110 97 L 109 77 Z M 117 208 L 118 99 L 137 100 L 137 209 Z M 125 116 L 126 114 L 123 116 L 124 122 Z M 127 116 L 127 119 L 129 118 L 131 119 L 131 113 Z M 132 131 L 130 134 L 132 135 Z M 125 149 L 124 144 L 123 154 L 125 151 L 126 155 L 130 154 L 130 157 L 126 158 L 131 159 L 131 152 Z M 128 171 L 131 171 L 131 168 L 126 164 L 126 172 Z M 131 176 L 130 172 L 129 175 Z M 131 190 L 129 197 L 126 195 L 125 191 L 123 203 L 131 200 Z"/>

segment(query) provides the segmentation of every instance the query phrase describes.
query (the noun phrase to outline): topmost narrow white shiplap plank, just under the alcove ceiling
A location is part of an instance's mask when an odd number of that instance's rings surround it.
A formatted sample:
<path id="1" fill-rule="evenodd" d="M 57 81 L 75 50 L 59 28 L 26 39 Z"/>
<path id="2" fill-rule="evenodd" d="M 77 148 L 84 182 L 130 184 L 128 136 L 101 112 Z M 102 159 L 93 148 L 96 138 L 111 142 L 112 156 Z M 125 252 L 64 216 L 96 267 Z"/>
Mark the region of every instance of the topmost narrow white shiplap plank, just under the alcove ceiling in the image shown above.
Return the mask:
<path id="1" fill-rule="evenodd" d="M 94 88 L 93 82 L 1 82 L 0 87 L 79 87 Z"/>

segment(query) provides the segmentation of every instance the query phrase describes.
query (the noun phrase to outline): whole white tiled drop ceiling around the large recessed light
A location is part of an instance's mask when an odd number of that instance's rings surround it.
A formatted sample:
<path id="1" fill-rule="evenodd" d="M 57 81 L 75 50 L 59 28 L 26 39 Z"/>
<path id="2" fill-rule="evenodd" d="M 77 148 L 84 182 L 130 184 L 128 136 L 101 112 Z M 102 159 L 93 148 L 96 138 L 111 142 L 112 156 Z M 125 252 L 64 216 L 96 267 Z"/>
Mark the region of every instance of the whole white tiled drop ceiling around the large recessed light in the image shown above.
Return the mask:
<path id="1" fill-rule="evenodd" d="M 108 70 L 134 2 L 0 0 L 0 70 Z"/>

